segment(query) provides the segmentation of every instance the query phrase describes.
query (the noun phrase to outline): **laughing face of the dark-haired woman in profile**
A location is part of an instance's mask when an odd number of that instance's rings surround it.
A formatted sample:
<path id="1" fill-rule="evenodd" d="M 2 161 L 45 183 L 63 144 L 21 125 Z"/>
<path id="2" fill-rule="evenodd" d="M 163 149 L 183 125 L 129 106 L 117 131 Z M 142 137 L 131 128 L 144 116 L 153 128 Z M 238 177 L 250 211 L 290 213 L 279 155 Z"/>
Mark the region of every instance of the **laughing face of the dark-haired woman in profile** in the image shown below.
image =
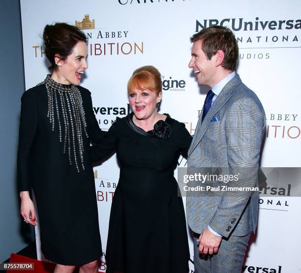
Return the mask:
<path id="1" fill-rule="evenodd" d="M 54 80 L 61 84 L 79 85 L 82 75 L 88 68 L 87 57 L 88 47 L 84 41 L 79 41 L 74 46 L 72 53 L 65 61 L 60 60 L 60 56 L 56 55 L 57 70 L 53 74 L 57 77 Z"/>

